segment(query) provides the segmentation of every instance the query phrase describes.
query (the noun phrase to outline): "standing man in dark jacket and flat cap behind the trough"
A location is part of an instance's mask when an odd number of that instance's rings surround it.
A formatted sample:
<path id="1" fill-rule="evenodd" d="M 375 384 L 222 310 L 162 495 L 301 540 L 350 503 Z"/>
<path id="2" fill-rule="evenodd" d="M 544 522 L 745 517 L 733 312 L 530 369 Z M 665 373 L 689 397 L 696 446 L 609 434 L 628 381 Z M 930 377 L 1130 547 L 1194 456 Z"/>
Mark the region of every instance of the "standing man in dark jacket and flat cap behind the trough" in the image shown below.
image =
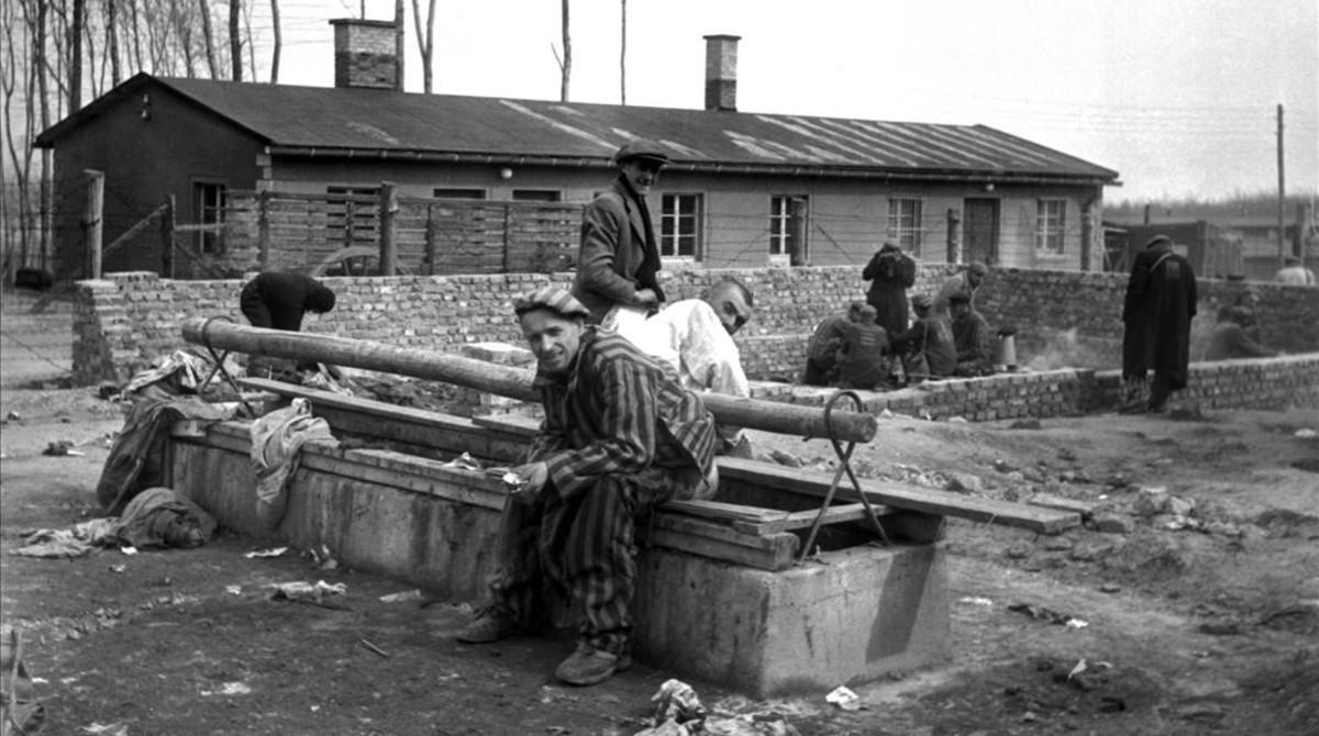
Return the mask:
<path id="1" fill-rule="evenodd" d="M 572 295 L 591 310 L 590 322 L 609 328 L 619 319 L 644 319 L 665 299 L 646 195 L 669 154 L 660 144 L 637 138 L 620 148 L 613 162 L 619 177 L 582 212 L 572 282 Z M 625 310 L 621 317 L 620 310 Z"/>

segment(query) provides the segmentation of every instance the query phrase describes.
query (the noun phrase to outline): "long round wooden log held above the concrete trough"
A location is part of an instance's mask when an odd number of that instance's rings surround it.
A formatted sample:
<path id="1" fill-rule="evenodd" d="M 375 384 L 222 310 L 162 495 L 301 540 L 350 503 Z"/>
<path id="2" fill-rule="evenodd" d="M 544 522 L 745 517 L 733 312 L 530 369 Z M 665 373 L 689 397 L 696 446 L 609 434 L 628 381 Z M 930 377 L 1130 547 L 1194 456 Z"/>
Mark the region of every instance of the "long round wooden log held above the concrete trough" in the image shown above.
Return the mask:
<path id="1" fill-rule="evenodd" d="M 315 360 L 331 365 L 445 381 L 521 401 L 539 401 L 539 394 L 532 386 L 533 371 L 439 351 L 335 335 L 265 330 L 203 317 L 183 322 L 183 339 L 215 350 Z M 818 406 L 737 398 L 719 393 L 703 393 L 700 398 L 723 423 L 778 434 L 827 438 L 832 427 L 832 435 L 842 442 L 869 442 L 878 427 L 874 415 L 864 412 L 834 412 L 826 422 L 824 410 Z"/>

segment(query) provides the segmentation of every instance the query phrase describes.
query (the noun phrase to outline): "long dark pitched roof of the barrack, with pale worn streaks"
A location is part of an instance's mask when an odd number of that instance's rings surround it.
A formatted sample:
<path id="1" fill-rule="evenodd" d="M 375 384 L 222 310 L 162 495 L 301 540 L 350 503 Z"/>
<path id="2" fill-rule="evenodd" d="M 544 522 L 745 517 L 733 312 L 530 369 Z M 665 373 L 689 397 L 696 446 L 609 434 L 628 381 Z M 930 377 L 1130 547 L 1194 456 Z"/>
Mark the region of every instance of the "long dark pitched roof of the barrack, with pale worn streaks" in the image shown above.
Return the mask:
<path id="1" fill-rule="evenodd" d="M 273 146 L 386 156 L 491 156 L 600 164 L 632 137 L 669 145 L 677 166 L 852 175 L 981 175 L 1112 182 L 1117 173 L 984 125 L 939 125 L 558 103 L 383 90 L 253 84 L 140 74 L 42 133 L 158 83 Z"/>

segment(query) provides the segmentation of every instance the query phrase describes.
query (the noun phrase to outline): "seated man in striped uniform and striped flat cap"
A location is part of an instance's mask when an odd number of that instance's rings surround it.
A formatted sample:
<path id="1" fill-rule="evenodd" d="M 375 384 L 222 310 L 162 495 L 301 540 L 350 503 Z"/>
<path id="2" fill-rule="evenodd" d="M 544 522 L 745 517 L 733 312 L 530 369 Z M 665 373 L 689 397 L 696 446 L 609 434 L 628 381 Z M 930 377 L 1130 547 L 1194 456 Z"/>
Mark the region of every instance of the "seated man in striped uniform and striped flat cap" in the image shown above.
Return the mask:
<path id="1" fill-rule="evenodd" d="M 576 650 L 555 670 L 595 685 L 632 665 L 636 517 L 718 488 L 715 419 L 695 393 L 627 338 L 587 326 L 590 310 L 547 286 L 513 305 L 536 353 L 545 421 L 513 468 L 500 522 L 492 604 L 458 638 L 530 628 L 542 574 L 582 612 Z"/>

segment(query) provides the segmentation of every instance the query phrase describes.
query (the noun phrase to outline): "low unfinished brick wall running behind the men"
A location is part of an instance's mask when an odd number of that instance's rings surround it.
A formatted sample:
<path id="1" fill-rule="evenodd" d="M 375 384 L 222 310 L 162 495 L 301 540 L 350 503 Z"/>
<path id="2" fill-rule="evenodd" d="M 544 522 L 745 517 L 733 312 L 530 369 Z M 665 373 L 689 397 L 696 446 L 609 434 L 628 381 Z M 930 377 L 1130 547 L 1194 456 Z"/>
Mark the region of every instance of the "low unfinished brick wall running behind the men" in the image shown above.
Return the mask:
<path id="1" fill-rule="evenodd" d="M 933 291 L 954 268 L 922 266 L 913 291 Z M 852 299 L 864 297 L 865 288 L 852 266 L 687 269 L 666 272 L 663 285 L 669 299 L 677 301 L 699 295 L 725 276 L 743 280 L 756 295 L 756 317 L 737 335 L 737 343 L 748 376 L 758 380 L 795 377 L 814 326 L 845 310 Z M 305 330 L 456 352 L 471 343 L 521 344 L 521 334 L 512 319 L 513 297 L 546 282 L 568 286 L 571 274 L 404 276 L 326 278 L 324 282 L 338 293 L 339 306 L 323 317 L 309 315 Z M 902 413 L 923 408 L 934 415 L 951 413 L 973 418 L 1068 414 L 1080 413 L 1096 401 L 1103 405 L 1103 398 L 1093 398 L 1095 390 L 1087 386 L 1108 386 L 1105 369 L 1119 364 L 1125 282 L 1121 274 L 995 272 L 977 303 L 992 324 L 1012 323 L 1021 330 L 1018 356 L 1022 365 L 1031 365 L 1037 357 L 1049 360 L 1035 361 L 1031 373 L 876 394 L 868 405 Z M 75 380 L 82 384 L 127 380 L 152 359 L 183 346 L 179 327 L 186 318 L 228 317 L 243 323 L 237 310 L 241 284 L 241 280 L 170 281 L 142 272 L 79 282 Z M 1310 355 L 1196 365 L 1191 394 L 1211 406 L 1277 402 L 1289 394 L 1298 405 L 1319 405 L 1315 396 L 1319 289 L 1254 286 L 1262 298 L 1260 319 L 1265 339 L 1289 352 Z M 1198 326 L 1207 328 L 1216 305 L 1231 302 L 1242 289 L 1239 282 L 1202 281 Z M 1070 350 L 1059 346 L 1070 346 Z M 1051 369 L 1059 367 L 1072 369 Z M 1116 377 L 1112 383 L 1116 386 Z M 947 388 L 954 384 L 975 388 Z M 1244 384 L 1254 388 L 1240 393 Z M 943 394 L 954 396 L 947 404 L 958 409 L 944 409 Z"/>

